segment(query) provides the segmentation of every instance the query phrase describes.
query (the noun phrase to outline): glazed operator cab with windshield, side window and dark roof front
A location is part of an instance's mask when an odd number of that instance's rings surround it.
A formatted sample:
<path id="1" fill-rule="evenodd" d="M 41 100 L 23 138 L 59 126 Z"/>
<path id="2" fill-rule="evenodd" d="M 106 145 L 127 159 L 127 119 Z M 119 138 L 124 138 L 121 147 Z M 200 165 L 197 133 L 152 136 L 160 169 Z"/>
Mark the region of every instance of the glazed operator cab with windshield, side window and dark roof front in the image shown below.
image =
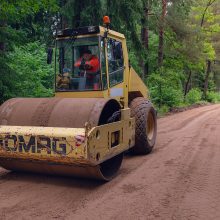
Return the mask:
<path id="1" fill-rule="evenodd" d="M 56 92 L 101 91 L 123 82 L 122 42 L 101 36 L 99 26 L 58 32 L 55 57 Z"/>

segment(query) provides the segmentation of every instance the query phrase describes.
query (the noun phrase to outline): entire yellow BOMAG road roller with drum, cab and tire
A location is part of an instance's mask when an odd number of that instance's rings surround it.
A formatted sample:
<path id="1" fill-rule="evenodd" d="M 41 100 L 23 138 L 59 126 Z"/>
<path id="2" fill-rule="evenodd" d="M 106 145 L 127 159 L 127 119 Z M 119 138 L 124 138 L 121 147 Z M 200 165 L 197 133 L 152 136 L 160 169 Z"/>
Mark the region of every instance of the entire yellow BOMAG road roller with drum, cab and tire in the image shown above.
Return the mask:
<path id="1" fill-rule="evenodd" d="M 0 106 L 0 166 L 109 181 L 124 152 L 152 151 L 156 111 L 123 34 L 108 24 L 60 30 L 52 54 L 55 97 Z"/>

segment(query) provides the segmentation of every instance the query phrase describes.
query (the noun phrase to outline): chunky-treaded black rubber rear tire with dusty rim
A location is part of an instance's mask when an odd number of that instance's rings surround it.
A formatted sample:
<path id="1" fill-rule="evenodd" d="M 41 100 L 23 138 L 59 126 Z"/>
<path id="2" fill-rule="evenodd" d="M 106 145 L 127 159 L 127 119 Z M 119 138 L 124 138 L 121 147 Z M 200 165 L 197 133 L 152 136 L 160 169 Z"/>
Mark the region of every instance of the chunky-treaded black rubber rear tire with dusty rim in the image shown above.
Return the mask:
<path id="1" fill-rule="evenodd" d="M 131 148 L 132 154 L 149 154 L 156 142 L 157 136 L 157 113 L 150 101 L 138 97 L 130 103 L 131 117 L 135 118 L 135 146 Z M 148 128 L 149 120 L 153 127 Z M 149 131 L 150 138 L 149 138 Z"/>

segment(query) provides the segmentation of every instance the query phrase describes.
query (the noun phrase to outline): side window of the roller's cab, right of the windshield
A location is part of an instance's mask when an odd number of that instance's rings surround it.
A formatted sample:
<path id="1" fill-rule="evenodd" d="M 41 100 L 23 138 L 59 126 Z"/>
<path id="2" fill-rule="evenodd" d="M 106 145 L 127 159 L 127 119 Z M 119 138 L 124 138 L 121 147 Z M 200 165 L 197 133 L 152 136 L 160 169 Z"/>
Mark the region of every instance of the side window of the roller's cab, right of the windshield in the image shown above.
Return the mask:
<path id="1" fill-rule="evenodd" d="M 124 59 L 122 43 L 114 39 L 108 39 L 108 72 L 110 87 L 123 82 Z"/>

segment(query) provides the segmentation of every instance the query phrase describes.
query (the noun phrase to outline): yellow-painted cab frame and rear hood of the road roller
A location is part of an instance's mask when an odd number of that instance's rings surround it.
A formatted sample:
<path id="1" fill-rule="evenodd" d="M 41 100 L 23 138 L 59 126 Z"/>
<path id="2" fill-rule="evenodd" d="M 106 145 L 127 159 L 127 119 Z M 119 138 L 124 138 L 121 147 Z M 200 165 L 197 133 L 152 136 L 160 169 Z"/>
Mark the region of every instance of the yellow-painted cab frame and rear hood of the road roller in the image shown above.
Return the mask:
<path id="1" fill-rule="evenodd" d="M 106 28 L 99 27 L 100 28 L 100 34 L 97 36 L 104 37 Z M 94 35 L 87 35 L 87 37 L 93 37 Z M 85 36 L 78 36 L 85 37 Z M 109 86 L 109 77 L 107 77 L 108 80 L 108 88 L 103 91 L 86 91 L 86 92 L 56 92 L 56 97 L 65 97 L 65 98 L 115 98 L 119 102 L 123 103 L 123 107 L 128 107 L 129 98 L 136 96 L 136 97 L 144 97 L 149 98 L 148 89 L 146 85 L 143 83 L 142 79 L 139 77 L 139 75 L 135 72 L 135 70 L 129 65 L 129 57 L 128 57 L 128 51 L 127 51 L 127 44 L 126 44 L 126 38 L 123 34 L 118 33 L 113 30 L 108 30 L 108 37 L 115 39 L 122 43 L 122 50 L 123 50 L 123 56 L 124 56 L 124 76 L 123 76 L 123 82 L 120 84 L 117 84 L 116 86 L 113 86 L 110 88 Z M 107 51 L 105 51 L 106 57 L 107 57 Z M 107 60 L 106 60 L 107 64 Z M 108 72 L 108 65 L 107 67 L 107 76 L 109 76 Z M 123 95 L 118 97 L 112 97 L 111 91 L 115 89 L 122 89 Z"/>

